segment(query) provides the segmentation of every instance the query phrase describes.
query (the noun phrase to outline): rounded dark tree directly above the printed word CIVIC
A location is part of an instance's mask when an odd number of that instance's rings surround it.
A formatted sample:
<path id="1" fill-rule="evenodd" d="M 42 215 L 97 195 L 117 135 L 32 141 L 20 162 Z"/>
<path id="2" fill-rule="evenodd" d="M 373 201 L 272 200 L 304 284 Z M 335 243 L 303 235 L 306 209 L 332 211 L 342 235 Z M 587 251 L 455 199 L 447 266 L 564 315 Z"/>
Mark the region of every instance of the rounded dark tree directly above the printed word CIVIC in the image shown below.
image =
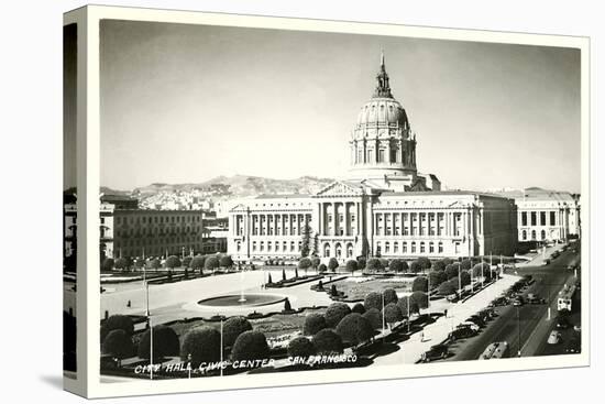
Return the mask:
<path id="1" fill-rule="evenodd" d="M 190 329 L 183 339 L 180 359 L 188 360 L 197 368 L 202 362 L 217 362 L 221 358 L 221 334 L 213 327 L 202 326 Z"/>

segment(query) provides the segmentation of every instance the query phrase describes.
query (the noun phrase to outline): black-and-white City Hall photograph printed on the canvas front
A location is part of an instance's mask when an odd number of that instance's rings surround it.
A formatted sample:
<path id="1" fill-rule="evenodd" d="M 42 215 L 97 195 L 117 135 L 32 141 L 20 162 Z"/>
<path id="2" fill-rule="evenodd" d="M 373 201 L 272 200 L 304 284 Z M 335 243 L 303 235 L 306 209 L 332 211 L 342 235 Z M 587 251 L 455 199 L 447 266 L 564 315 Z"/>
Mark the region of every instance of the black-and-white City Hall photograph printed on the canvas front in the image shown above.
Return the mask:
<path id="1" fill-rule="evenodd" d="M 586 51 L 258 25 L 99 20 L 99 383 L 582 364 Z"/>

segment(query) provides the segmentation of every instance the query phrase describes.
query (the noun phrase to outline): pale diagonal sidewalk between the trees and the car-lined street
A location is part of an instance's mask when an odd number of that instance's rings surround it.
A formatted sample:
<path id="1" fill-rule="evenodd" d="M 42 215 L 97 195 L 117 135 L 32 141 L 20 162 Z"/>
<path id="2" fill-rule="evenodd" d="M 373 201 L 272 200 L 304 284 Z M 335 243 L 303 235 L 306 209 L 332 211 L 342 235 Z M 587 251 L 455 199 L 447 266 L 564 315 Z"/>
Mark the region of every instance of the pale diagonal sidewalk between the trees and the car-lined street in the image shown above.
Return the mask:
<path id="1" fill-rule="evenodd" d="M 398 343 L 398 351 L 384 357 L 377 357 L 374 359 L 374 363 L 378 365 L 416 363 L 420 360 L 421 354 L 428 351 L 431 346 L 440 343 L 448 338 L 448 335 L 455 326 L 486 307 L 490 302 L 499 296 L 505 290 L 517 282 L 518 279 L 518 276 L 505 274 L 503 279 L 469 298 L 466 302 L 451 305 L 448 309 L 447 318 L 440 317 L 436 323 L 425 327 L 424 341 L 421 340 L 422 332 L 416 332 L 410 339 Z"/>

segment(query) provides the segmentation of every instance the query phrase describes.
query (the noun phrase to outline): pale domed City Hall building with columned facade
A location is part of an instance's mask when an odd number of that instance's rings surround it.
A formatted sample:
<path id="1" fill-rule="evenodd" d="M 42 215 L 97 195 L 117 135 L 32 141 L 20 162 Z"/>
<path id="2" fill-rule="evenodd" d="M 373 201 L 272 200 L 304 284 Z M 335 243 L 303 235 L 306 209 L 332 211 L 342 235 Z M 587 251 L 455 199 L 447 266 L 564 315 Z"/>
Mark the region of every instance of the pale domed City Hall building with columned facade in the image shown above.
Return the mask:
<path id="1" fill-rule="evenodd" d="M 314 195 L 241 200 L 229 211 L 228 252 L 239 262 L 310 253 L 343 262 L 358 256 L 512 255 L 517 244 L 515 200 L 441 190 L 418 173 L 417 137 L 391 92 L 384 56 L 373 97 L 349 140 L 345 179 Z"/>

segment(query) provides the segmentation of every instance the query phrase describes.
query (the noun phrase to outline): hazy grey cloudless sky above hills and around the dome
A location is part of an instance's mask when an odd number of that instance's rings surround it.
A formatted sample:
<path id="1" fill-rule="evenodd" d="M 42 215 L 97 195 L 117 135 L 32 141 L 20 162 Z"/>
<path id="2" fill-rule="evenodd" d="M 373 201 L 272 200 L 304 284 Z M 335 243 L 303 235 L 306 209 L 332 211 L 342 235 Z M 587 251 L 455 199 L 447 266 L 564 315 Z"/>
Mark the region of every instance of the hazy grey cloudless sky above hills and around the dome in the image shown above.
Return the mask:
<path id="1" fill-rule="evenodd" d="M 384 50 L 419 172 L 580 192 L 580 51 L 103 20 L 101 185 L 344 177 Z"/>

